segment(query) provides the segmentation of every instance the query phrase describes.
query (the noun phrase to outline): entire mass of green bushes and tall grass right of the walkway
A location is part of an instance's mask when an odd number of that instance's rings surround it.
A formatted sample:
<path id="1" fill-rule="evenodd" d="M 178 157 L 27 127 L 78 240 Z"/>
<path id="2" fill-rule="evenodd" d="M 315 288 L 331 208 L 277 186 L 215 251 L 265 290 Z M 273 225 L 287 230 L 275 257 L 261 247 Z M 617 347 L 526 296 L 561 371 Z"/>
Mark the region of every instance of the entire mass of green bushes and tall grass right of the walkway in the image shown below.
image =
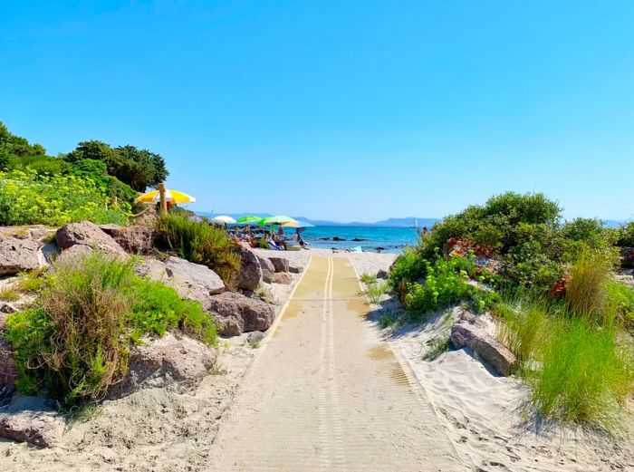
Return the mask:
<path id="1" fill-rule="evenodd" d="M 434 226 L 390 284 L 413 320 L 457 303 L 490 310 L 540 414 L 614 430 L 634 389 L 634 289 L 612 275 L 633 235 L 631 224 L 562 224 L 542 194 L 506 193 Z"/>

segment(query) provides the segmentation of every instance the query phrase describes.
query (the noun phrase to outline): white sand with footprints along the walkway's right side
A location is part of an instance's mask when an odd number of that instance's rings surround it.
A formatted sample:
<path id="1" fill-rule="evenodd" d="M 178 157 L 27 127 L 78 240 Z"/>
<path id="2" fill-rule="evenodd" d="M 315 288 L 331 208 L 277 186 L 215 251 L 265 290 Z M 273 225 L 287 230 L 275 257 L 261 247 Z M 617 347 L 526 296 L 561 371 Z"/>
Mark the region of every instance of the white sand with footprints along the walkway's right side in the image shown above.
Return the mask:
<path id="1" fill-rule="evenodd" d="M 471 458 L 476 470 L 634 470 L 632 437 L 613 441 L 579 429 L 545 427 L 538 434 L 521 381 L 496 376 L 465 350 L 423 361 L 433 340 L 447 336 L 455 318 L 456 313 L 438 313 L 387 339 L 414 371 L 460 455 Z"/>

